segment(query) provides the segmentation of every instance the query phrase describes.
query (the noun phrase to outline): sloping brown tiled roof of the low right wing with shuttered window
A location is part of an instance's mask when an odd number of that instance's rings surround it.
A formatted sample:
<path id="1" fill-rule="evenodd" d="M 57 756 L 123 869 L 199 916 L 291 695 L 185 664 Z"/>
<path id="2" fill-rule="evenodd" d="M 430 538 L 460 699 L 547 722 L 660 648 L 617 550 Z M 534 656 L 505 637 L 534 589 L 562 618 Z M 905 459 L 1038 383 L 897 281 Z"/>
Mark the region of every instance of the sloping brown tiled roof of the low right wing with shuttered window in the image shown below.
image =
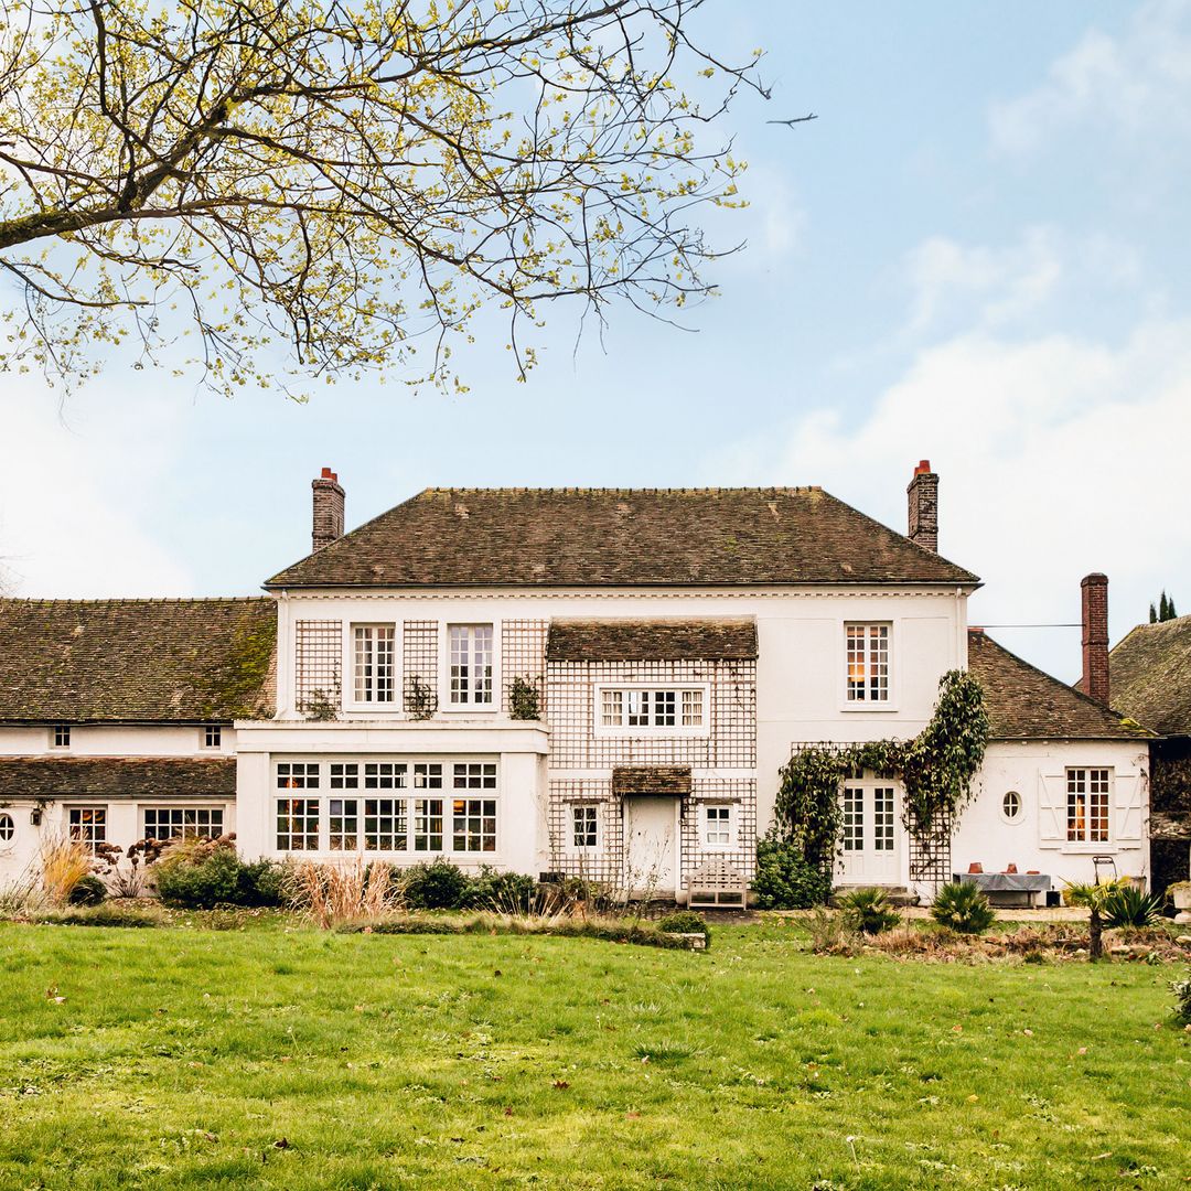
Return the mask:
<path id="1" fill-rule="evenodd" d="M 984 687 L 993 740 L 1137 740 L 1151 735 L 1030 666 L 980 629 L 968 631 L 968 669 Z"/>

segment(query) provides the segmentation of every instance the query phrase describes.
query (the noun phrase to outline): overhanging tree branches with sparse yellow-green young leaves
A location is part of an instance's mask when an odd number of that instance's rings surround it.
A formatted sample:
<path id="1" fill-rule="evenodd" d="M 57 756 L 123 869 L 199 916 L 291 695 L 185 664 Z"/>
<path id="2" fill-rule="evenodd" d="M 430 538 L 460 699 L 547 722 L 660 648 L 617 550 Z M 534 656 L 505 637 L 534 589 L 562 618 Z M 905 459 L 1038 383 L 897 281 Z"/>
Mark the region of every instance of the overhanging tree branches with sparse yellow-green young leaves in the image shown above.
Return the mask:
<path id="1" fill-rule="evenodd" d="M 185 367 L 189 336 L 224 392 L 459 385 L 493 303 L 522 375 L 543 303 L 665 317 L 710 289 L 699 208 L 738 205 L 697 137 L 766 94 L 760 51 L 694 44 L 701 4 L 7 0 L 0 367 L 79 379 L 126 341 Z"/>

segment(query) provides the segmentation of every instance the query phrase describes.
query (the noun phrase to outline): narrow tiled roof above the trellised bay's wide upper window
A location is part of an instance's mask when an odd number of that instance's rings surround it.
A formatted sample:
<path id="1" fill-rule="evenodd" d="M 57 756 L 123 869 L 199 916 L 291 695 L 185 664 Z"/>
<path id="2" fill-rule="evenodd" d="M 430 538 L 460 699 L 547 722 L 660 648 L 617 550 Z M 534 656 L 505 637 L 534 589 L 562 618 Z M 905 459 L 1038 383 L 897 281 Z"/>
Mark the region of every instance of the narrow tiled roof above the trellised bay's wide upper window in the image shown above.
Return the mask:
<path id="1" fill-rule="evenodd" d="M 550 661 L 719 661 L 756 657 L 756 624 L 716 621 L 553 621 Z"/>

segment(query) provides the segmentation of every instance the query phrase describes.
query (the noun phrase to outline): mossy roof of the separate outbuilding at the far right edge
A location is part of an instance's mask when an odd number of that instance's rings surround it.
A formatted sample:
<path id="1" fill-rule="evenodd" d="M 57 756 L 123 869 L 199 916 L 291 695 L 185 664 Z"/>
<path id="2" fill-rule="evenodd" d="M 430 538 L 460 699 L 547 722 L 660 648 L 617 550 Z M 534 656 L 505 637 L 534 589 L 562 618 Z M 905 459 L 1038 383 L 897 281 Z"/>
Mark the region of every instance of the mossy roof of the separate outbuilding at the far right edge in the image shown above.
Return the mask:
<path id="1" fill-rule="evenodd" d="M 1139 624 L 1109 654 L 1112 703 L 1165 736 L 1191 736 L 1191 616 Z"/>

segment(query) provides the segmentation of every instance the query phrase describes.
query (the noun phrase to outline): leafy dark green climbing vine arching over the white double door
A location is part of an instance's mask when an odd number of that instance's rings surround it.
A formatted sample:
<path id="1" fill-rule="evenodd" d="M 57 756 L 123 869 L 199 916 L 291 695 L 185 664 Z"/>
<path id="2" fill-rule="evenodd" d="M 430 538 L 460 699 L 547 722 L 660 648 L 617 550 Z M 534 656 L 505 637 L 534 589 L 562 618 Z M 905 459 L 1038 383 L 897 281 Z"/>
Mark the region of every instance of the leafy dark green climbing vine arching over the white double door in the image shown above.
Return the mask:
<path id="1" fill-rule="evenodd" d="M 984 761 L 989 717 L 980 684 L 965 671 L 939 680 L 930 723 L 909 741 L 805 746 L 781 769 L 774 831 L 806 860 L 828 869 L 840 842 L 840 785 L 871 769 L 898 778 L 908 830 L 929 833 L 942 815 L 958 815 L 972 799 L 972 780 Z"/>

